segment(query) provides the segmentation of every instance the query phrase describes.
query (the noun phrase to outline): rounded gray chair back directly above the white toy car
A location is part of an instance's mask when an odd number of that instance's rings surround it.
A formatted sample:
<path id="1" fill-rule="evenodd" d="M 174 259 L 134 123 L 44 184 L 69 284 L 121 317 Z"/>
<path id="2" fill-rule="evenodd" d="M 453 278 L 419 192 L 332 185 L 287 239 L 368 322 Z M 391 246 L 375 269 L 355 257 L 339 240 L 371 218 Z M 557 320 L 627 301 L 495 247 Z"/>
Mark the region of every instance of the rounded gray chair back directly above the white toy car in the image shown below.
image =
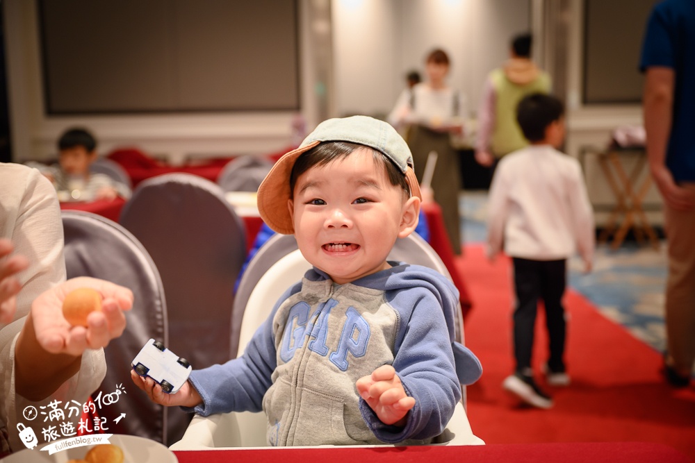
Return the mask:
<path id="1" fill-rule="evenodd" d="M 149 178 L 124 205 L 120 224 L 138 237 L 162 276 L 167 347 L 194 369 L 229 360 L 234 283 L 246 237 L 220 187 L 191 174 Z"/>

